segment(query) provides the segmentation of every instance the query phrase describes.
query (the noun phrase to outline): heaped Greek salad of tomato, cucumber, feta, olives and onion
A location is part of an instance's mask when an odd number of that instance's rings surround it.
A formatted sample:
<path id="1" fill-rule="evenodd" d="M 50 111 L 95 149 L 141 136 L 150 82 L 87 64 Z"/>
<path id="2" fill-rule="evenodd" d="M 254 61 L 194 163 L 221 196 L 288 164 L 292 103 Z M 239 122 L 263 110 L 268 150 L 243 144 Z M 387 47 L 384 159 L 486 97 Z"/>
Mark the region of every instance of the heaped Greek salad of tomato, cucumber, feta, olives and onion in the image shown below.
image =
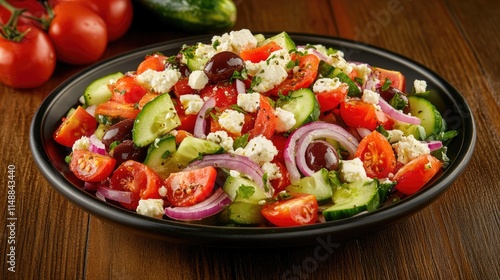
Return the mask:
<path id="1" fill-rule="evenodd" d="M 397 203 L 457 131 L 426 81 L 247 29 L 93 81 L 54 140 L 108 203 L 158 219 L 299 226 Z"/>

